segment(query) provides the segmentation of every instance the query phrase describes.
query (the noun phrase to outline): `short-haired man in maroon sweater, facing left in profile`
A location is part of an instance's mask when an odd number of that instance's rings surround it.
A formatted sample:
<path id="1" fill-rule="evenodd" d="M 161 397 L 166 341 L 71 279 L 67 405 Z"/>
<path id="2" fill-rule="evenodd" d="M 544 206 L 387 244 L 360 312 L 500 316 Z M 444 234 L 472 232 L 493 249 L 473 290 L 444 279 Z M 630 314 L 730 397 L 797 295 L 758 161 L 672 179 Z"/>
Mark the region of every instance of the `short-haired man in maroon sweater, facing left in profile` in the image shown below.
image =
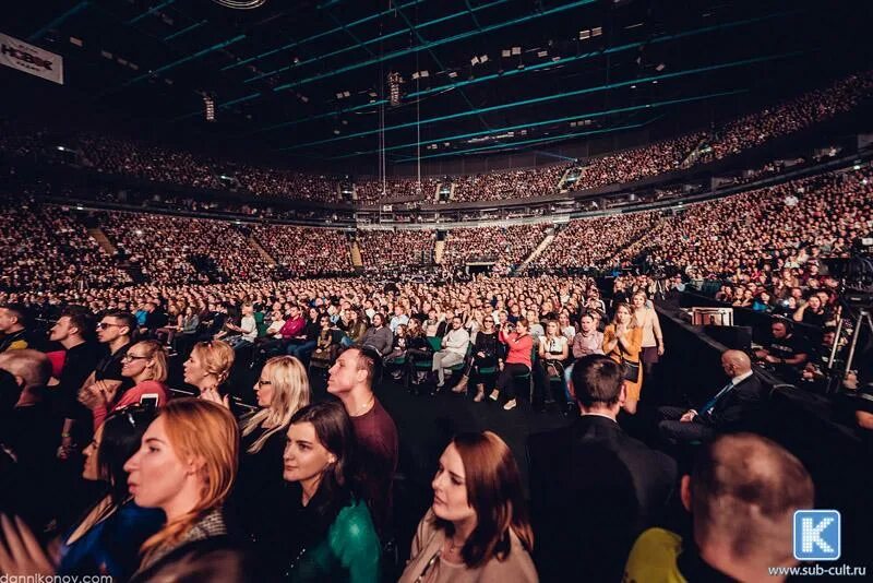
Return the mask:
<path id="1" fill-rule="evenodd" d="M 363 490 L 373 524 L 384 536 L 392 510 L 392 481 L 399 456 L 397 426 L 373 393 L 382 373 L 382 356 L 371 346 L 351 346 L 336 359 L 327 392 L 339 398 L 358 438 Z"/>

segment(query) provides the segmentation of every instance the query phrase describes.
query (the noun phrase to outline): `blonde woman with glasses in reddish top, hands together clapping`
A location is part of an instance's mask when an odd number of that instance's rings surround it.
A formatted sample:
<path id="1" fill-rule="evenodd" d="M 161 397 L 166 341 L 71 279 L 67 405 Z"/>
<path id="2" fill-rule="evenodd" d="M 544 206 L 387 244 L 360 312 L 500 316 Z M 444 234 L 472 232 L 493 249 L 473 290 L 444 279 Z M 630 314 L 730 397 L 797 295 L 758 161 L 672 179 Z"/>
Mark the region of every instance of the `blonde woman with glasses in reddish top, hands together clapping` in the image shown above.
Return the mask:
<path id="1" fill-rule="evenodd" d="M 133 386 L 122 391 L 121 386 L 99 389 L 97 384 L 88 388 L 92 393 L 85 400 L 94 415 L 94 430 L 103 425 L 106 416 L 148 398 L 158 407 L 167 403 L 167 352 L 158 341 L 137 342 L 121 358 L 121 376 L 133 381 Z"/>

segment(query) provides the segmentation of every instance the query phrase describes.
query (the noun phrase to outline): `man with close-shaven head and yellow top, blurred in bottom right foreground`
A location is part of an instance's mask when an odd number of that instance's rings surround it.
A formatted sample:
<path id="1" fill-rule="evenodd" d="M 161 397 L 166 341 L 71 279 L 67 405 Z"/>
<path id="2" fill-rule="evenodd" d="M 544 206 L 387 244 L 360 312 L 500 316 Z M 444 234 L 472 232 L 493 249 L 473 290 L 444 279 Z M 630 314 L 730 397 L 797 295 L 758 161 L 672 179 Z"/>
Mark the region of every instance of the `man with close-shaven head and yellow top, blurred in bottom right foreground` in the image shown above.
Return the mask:
<path id="1" fill-rule="evenodd" d="M 813 508 L 803 464 L 760 436 L 722 436 L 682 477 L 693 539 L 663 528 L 639 535 L 624 581 L 784 581 L 774 568 L 798 564 L 794 512 Z"/>

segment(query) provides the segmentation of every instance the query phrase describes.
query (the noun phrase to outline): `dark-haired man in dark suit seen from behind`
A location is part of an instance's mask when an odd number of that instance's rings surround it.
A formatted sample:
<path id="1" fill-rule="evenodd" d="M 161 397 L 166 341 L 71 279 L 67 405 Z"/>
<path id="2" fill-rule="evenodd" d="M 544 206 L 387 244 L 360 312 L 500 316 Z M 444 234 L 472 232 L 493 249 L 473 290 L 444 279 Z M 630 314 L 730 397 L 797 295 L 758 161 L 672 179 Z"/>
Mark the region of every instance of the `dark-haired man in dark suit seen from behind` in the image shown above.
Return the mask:
<path id="1" fill-rule="evenodd" d="M 625 397 L 620 365 L 583 357 L 571 383 L 582 416 L 528 443 L 535 559 L 542 581 L 621 581 L 635 537 L 667 507 L 675 462 L 617 423 Z"/>

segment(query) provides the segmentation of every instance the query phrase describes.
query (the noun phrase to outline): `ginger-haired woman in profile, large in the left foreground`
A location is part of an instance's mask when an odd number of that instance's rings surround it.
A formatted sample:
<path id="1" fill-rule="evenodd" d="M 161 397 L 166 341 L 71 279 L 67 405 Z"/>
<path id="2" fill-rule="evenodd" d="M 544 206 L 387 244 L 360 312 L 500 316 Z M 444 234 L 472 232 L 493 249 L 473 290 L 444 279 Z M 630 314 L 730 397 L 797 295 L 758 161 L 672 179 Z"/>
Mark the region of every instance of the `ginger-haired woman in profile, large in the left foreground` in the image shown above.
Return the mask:
<path id="1" fill-rule="evenodd" d="M 200 398 L 158 411 L 124 469 L 133 501 L 160 508 L 164 527 L 142 547 L 131 581 L 250 581 L 222 507 L 237 476 L 239 428 L 230 412 Z"/>

